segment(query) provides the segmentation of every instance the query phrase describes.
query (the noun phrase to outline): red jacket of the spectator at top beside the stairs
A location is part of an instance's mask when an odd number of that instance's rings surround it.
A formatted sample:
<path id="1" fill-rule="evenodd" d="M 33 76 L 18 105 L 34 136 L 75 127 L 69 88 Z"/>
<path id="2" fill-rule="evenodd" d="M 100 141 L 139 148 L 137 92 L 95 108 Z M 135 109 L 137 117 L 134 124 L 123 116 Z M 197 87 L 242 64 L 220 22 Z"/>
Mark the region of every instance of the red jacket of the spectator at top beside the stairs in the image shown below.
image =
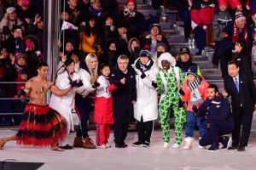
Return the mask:
<path id="1" fill-rule="evenodd" d="M 209 0 L 208 3 L 203 0 L 193 1 L 190 11 L 193 29 L 198 25 L 212 25 L 214 11 L 217 8 L 215 0 Z"/>

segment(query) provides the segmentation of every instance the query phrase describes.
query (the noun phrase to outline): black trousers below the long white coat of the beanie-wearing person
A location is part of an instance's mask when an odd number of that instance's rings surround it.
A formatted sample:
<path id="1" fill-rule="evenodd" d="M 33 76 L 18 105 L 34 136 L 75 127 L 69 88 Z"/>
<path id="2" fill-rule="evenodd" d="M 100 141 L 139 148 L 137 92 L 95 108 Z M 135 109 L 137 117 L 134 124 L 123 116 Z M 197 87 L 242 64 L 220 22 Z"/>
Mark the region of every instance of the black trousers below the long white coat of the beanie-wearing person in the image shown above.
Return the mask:
<path id="1" fill-rule="evenodd" d="M 143 116 L 140 122 L 137 122 L 138 142 L 143 144 L 145 141 L 150 142 L 151 135 L 154 131 L 154 121 L 143 122 Z"/>

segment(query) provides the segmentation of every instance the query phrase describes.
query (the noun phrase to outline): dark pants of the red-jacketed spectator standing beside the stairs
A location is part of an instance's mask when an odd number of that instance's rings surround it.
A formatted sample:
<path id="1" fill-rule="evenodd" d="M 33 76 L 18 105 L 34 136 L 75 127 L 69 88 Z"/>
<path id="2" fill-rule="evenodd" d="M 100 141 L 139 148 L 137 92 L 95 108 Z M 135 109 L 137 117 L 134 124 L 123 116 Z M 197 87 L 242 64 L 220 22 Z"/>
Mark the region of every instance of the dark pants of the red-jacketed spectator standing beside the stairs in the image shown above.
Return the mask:
<path id="1" fill-rule="evenodd" d="M 207 47 L 207 31 L 205 31 L 201 26 L 196 26 L 195 29 L 195 42 L 198 48 L 198 53 Z"/>

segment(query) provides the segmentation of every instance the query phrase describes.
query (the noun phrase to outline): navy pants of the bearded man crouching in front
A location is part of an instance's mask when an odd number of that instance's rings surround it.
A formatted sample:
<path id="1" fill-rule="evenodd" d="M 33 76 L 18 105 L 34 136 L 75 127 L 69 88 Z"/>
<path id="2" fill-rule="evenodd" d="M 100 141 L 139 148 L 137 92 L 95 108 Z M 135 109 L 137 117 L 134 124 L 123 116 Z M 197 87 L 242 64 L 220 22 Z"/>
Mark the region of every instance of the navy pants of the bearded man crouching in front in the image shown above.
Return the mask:
<path id="1" fill-rule="evenodd" d="M 210 130 L 199 140 L 201 146 L 207 146 L 209 144 L 218 144 L 218 136 L 232 133 L 234 126 L 231 126 L 228 122 L 211 121 Z"/>

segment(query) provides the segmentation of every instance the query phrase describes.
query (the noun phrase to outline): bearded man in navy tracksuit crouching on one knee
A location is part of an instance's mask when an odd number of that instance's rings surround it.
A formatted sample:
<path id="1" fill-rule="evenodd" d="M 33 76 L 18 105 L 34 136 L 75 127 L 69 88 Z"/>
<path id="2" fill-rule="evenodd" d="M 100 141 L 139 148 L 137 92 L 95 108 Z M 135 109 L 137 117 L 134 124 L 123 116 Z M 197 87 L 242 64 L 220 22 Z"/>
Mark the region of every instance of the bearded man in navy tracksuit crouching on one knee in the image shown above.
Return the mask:
<path id="1" fill-rule="evenodd" d="M 222 150 L 227 150 L 231 144 L 231 139 L 224 134 L 232 133 L 235 127 L 234 117 L 230 111 L 230 101 L 218 94 L 218 87 L 211 84 L 207 91 L 207 100 L 197 109 L 192 108 L 195 116 L 203 116 L 211 122 L 210 130 L 199 141 L 201 146 L 212 144 L 207 151 L 219 151 L 218 143 L 221 143 Z"/>

